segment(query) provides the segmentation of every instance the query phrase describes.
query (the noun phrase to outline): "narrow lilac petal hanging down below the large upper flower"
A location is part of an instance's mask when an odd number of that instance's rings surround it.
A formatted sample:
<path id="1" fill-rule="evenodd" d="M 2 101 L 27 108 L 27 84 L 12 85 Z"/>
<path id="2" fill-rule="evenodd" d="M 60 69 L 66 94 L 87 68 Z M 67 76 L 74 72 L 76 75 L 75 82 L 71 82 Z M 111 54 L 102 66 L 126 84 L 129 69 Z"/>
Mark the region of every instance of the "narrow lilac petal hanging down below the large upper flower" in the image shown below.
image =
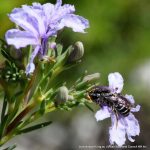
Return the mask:
<path id="1" fill-rule="evenodd" d="M 35 65 L 33 63 L 33 60 L 36 57 L 36 55 L 38 54 L 39 50 L 40 50 L 40 46 L 36 46 L 33 53 L 31 54 L 30 62 L 26 67 L 27 75 L 33 73 L 33 71 L 35 70 Z"/>

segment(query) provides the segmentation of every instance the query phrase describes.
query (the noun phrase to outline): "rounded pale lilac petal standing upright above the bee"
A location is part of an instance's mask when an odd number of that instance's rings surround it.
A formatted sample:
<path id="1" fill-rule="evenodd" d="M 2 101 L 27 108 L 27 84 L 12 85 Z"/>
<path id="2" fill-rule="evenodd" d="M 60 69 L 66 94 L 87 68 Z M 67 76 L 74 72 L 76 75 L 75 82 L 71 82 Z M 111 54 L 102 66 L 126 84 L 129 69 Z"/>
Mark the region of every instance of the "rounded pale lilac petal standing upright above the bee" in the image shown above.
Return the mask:
<path id="1" fill-rule="evenodd" d="M 123 89 L 123 78 L 119 72 L 110 73 L 108 75 L 108 81 L 112 92 L 121 93 Z"/>

